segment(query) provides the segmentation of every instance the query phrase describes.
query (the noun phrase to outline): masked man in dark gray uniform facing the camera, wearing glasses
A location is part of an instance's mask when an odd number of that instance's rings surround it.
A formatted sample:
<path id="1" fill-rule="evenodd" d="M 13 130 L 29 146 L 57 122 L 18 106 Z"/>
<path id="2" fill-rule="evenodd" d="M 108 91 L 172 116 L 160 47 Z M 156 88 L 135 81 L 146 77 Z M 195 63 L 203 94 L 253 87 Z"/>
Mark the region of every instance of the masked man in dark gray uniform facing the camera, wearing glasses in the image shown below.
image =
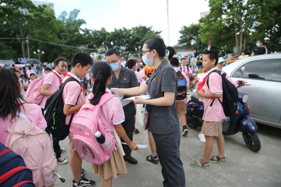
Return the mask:
<path id="1" fill-rule="evenodd" d="M 106 61 L 112 67 L 112 81 L 108 85 L 108 88 L 132 88 L 139 86 L 139 82 L 137 80 L 137 76 L 133 70 L 129 70 L 121 66 L 120 61 L 120 52 L 117 49 L 110 49 L 105 54 Z M 124 96 L 123 99 L 128 97 Z M 123 107 L 124 114 L 125 114 L 125 121 L 122 123 L 122 126 L 130 138 L 133 141 L 133 131 L 135 128 L 135 104 L 133 102 L 129 103 L 128 105 Z M 124 140 L 121 138 L 121 142 Z M 122 147 L 125 152 L 124 160 L 128 161 L 131 164 L 137 164 L 137 160 L 131 156 L 132 150 L 128 145 L 122 144 Z"/>

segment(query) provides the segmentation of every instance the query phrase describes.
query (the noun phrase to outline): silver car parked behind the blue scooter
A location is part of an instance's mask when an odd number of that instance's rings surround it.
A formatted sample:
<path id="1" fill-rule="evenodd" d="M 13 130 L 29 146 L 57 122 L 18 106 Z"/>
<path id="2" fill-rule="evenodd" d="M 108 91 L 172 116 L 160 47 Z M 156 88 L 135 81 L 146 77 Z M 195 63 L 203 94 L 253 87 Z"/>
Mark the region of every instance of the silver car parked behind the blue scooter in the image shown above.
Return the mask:
<path id="1" fill-rule="evenodd" d="M 281 128 L 281 54 L 241 59 L 223 67 L 223 71 L 236 81 L 241 77 L 240 69 L 243 66 L 245 73 L 242 79 L 251 86 L 238 90 L 248 95 L 250 117 L 257 123 Z M 199 82 L 205 76 L 206 73 L 198 74 Z"/>

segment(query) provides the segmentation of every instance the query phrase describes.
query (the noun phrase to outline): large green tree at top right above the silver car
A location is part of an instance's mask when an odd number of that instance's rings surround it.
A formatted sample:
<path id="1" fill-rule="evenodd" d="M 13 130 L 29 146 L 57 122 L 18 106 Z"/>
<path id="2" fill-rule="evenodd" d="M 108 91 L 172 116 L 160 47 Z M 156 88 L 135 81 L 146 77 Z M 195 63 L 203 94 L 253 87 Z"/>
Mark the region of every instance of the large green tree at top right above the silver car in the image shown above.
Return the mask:
<path id="1" fill-rule="evenodd" d="M 210 14 L 201 19 L 199 30 L 202 41 L 211 39 L 212 45 L 237 47 L 241 54 L 247 40 L 270 37 L 273 26 L 279 28 L 281 1 L 268 0 L 210 0 Z M 280 10 L 280 9 L 279 9 Z M 279 16 L 278 16 L 279 15 Z M 254 39 L 256 38 L 256 39 Z M 249 49 L 249 48 L 248 48 Z"/>

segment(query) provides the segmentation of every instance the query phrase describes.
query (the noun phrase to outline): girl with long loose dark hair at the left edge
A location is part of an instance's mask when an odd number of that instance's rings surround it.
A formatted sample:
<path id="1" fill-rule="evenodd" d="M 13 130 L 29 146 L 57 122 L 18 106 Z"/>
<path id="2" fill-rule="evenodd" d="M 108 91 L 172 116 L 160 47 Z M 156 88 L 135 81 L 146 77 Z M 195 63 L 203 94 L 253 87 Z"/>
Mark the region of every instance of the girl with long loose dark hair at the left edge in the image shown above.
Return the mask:
<path id="1" fill-rule="evenodd" d="M 6 144 L 9 133 L 5 130 L 12 126 L 9 115 L 11 115 L 12 119 L 19 117 L 16 114 L 18 112 L 24 113 L 23 109 L 26 105 L 31 105 L 27 117 L 31 121 L 35 121 L 35 125 L 44 130 L 47 122 L 40 107 L 36 104 L 28 104 L 22 99 L 17 75 L 12 70 L 1 68 L 0 81 L 5 83 L 0 85 L 0 142 L 4 145 Z"/>

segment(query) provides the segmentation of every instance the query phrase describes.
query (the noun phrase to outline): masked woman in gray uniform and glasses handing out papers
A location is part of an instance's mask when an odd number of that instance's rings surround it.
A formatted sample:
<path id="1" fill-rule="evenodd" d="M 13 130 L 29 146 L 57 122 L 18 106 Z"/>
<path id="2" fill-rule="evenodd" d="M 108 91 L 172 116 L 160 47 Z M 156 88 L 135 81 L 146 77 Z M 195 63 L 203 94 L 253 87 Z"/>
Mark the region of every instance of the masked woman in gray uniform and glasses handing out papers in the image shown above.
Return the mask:
<path id="1" fill-rule="evenodd" d="M 150 105 L 146 128 L 152 133 L 162 166 L 164 187 L 185 186 L 185 174 L 180 160 L 180 122 L 175 103 L 177 75 L 174 68 L 164 60 L 165 50 L 169 50 L 169 60 L 175 54 L 173 47 L 166 47 L 161 38 L 149 38 L 142 48 L 142 60 L 156 70 L 141 87 L 118 89 L 126 96 L 138 96 L 148 91 L 150 100 L 136 98 L 136 104 Z"/>

